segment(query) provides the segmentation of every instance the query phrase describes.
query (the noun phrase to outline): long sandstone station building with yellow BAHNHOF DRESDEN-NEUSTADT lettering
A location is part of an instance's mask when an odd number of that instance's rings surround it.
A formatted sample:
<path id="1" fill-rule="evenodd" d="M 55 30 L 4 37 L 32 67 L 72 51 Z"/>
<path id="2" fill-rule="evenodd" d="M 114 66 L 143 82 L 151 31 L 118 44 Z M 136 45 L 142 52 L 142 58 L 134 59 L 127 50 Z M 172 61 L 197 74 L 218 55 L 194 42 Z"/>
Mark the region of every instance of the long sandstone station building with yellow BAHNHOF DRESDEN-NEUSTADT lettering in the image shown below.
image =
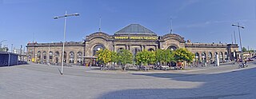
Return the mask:
<path id="1" fill-rule="evenodd" d="M 28 43 L 27 55 L 29 61 L 61 63 L 62 42 L 54 43 Z M 237 58 L 237 44 L 222 43 L 192 43 L 187 42 L 178 34 L 165 34 L 158 36 L 151 30 L 139 24 L 130 24 L 114 35 L 96 32 L 87 35 L 83 42 L 66 42 L 64 62 L 68 64 L 94 63 L 95 54 L 99 49 L 110 49 L 118 52 L 128 49 L 136 54 L 143 49 L 154 51 L 156 49 L 186 48 L 195 54 L 194 61 L 214 61 L 218 54 L 220 61 Z"/>

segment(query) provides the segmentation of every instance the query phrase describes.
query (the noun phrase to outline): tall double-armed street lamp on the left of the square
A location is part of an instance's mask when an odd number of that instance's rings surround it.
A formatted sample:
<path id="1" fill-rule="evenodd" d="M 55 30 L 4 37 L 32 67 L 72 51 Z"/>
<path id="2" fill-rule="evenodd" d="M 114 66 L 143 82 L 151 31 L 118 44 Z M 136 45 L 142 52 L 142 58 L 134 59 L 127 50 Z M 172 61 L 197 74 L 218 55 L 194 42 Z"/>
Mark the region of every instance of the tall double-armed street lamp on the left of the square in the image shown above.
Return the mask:
<path id="1" fill-rule="evenodd" d="M 64 20 L 64 38 L 63 38 L 63 49 L 62 49 L 62 70 L 61 70 L 61 74 L 63 74 L 63 61 L 64 61 L 64 45 L 65 45 L 65 37 L 66 37 L 66 18 L 70 17 L 70 16 L 78 16 L 78 13 L 75 14 L 66 14 L 63 16 L 57 16 L 54 17 L 54 19 L 58 19 L 58 18 L 65 18 Z"/>

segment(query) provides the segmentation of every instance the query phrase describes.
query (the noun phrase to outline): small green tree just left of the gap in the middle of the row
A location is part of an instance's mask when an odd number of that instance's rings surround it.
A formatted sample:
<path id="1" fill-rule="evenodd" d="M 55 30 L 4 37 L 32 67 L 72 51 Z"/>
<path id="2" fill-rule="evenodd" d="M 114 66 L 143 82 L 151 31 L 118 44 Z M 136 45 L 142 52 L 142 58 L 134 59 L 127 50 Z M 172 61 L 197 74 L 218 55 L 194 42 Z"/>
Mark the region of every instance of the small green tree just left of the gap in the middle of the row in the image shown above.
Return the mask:
<path id="1" fill-rule="evenodd" d="M 126 70 L 126 64 L 132 63 L 133 55 L 132 53 L 130 53 L 129 50 L 121 49 L 120 52 L 118 53 L 118 61 L 124 67 L 124 70 Z"/>

